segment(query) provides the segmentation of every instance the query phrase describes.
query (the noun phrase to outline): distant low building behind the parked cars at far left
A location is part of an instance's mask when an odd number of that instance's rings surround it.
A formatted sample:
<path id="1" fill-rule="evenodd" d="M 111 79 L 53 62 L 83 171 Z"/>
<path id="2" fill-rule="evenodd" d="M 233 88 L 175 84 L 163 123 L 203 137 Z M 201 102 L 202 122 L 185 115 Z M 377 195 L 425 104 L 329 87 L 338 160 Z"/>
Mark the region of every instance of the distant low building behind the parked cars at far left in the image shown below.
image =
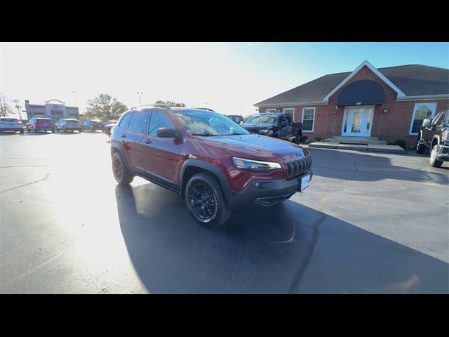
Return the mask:
<path id="1" fill-rule="evenodd" d="M 59 104 L 50 102 L 59 102 Z M 53 121 L 59 121 L 61 118 L 79 119 L 79 108 L 67 107 L 60 100 L 48 100 L 44 105 L 29 104 L 29 100 L 25 100 L 25 111 L 28 120 L 33 117 L 50 118 Z"/>

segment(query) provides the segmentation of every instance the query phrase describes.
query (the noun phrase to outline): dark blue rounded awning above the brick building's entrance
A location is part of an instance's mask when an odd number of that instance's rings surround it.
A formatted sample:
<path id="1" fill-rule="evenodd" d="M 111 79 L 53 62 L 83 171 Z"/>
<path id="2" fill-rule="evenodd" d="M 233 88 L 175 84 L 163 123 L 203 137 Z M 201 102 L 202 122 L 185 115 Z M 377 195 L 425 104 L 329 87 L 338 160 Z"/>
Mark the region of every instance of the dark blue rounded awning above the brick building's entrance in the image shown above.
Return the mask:
<path id="1" fill-rule="evenodd" d="M 376 105 L 385 101 L 384 89 L 369 79 L 348 84 L 337 97 L 337 105 Z"/>

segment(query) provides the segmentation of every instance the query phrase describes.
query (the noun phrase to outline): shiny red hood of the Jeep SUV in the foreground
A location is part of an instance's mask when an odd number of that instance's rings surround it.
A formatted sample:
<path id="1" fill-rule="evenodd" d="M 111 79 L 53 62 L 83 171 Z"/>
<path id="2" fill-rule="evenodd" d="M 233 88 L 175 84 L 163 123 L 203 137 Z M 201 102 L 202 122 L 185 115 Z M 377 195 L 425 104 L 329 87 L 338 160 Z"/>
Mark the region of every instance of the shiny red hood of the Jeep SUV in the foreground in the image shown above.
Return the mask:
<path id="1" fill-rule="evenodd" d="M 300 145 L 273 137 L 239 135 L 201 137 L 201 143 L 217 149 L 217 153 L 228 152 L 230 156 L 262 161 L 288 161 L 309 154 Z"/>

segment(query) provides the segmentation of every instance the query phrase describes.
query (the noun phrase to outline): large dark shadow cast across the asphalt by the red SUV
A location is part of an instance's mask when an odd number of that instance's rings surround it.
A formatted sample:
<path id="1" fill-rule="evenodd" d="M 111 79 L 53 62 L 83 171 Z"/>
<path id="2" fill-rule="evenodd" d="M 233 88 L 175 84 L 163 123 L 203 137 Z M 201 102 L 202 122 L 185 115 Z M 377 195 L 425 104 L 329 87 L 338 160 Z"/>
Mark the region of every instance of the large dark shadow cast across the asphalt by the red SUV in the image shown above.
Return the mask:
<path id="1" fill-rule="evenodd" d="M 209 230 L 152 183 L 115 193 L 149 293 L 448 293 L 448 263 L 294 201 Z"/>

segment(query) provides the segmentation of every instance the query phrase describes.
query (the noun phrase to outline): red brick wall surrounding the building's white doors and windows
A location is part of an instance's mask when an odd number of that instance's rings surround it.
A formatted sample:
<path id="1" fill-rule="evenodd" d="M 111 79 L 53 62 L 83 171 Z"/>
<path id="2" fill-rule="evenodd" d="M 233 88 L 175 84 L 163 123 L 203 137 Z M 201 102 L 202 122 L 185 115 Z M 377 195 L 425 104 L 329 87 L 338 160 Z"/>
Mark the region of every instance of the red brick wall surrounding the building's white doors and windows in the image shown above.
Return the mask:
<path id="1" fill-rule="evenodd" d="M 413 110 L 415 103 L 437 103 L 436 114 L 441 111 L 449 110 L 449 99 L 443 100 L 396 100 L 396 91 L 390 88 L 387 84 L 382 81 L 376 74 L 374 74 L 368 67 L 362 67 L 362 69 L 354 75 L 347 83 L 342 86 L 338 91 L 336 91 L 329 98 L 327 105 L 296 105 L 292 106 L 295 108 L 295 120 L 301 121 L 302 119 L 302 109 L 304 107 L 315 107 L 315 121 L 314 121 L 314 132 L 303 131 L 302 135 L 307 137 L 320 137 L 320 138 L 331 138 L 333 136 L 341 136 L 342 134 L 342 123 L 344 115 L 344 107 L 337 107 L 337 113 L 334 114 L 333 111 L 336 107 L 337 97 L 340 92 L 348 84 L 354 81 L 359 81 L 361 79 L 369 79 L 376 81 L 385 93 L 384 106 L 387 108 L 387 113 L 382 113 L 382 105 L 376 105 L 374 116 L 373 116 L 373 126 L 371 128 L 371 137 L 379 137 L 380 140 L 387 140 L 389 142 L 394 142 L 397 139 L 406 140 L 408 145 L 412 146 L 415 144 L 417 136 L 410 136 L 408 133 L 410 131 L 410 124 L 413 118 Z M 265 110 L 273 107 L 260 107 L 259 112 L 265 112 Z M 277 109 L 283 110 L 285 107 L 276 107 Z M 382 119 L 381 119 L 382 116 Z"/>

